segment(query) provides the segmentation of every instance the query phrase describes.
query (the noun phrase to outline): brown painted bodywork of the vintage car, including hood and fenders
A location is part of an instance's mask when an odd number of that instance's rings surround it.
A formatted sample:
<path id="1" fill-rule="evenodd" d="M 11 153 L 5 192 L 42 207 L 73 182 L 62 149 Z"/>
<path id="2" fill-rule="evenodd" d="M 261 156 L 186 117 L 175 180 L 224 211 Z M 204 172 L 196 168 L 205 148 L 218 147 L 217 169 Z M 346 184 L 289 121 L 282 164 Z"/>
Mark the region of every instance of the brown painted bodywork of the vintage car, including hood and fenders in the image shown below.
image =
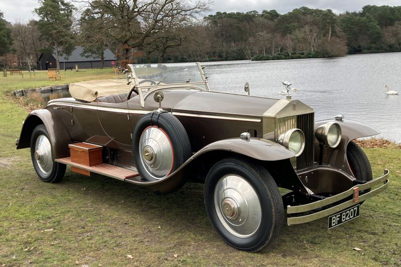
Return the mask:
<path id="1" fill-rule="evenodd" d="M 160 192 L 175 190 L 185 181 L 186 169 L 190 169 L 193 162 L 213 151 L 244 155 L 266 162 L 292 158 L 294 156 L 292 152 L 274 142 L 277 138 L 277 133 L 274 130 L 275 118 L 313 113 L 313 109 L 298 100 L 250 97 L 200 91 L 193 88 L 165 89 L 162 91 L 164 93 L 164 101 L 161 103 L 162 109 L 172 113 L 182 123 L 187 131 L 194 154 L 176 171 L 162 180 L 149 182 L 140 179 L 127 179 L 127 182 L 150 186 Z M 128 101 L 115 104 L 83 103 L 74 98 L 57 99 L 50 101 L 46 110 L 35 111 L 30 116 L 37 116 L 43 121 L 47 129 L 53 129 L 49 131 L 49 134 L 52 140 L 54 158 L 68 156 L 68 151 L 66 151 L 68 143 L 86 141 L 116 149 L 118 157 L 116 156 L 114 164 L 125 168 L 135 168 L 131 152 L 131 134 L 136 122 L 144 114 L 158 108 L 158 103 L 153 100 L 152 95 L 153 93 L 146 97 L 145 108 L 142 108 L 139 96 L 133 96 Z M 241 105 L 237 103 L 241 103 Z M 70 118 L 71 120 L 69 120 Z M 30 120 L 28 117 L 27 121 Z M 318 122 L 315 127 L 325 122 Z M 325 152 L 328 151 L 328 153 L 325 153 L 324 162 L 333 163 L 334 161 L 335 166 L 342 166 L 345 171 L 350 173 L 345 158 L 346 144 L 354 138 L 374 135 L 377 132 L 364 124 L 355 124 L 349 121 L 344 121 L 341 127 L 343 127 L 343 137 L 340 148 L 331 150 L 325 148 Z M 28 140 L 32 130 L 32 127 L 27 126 L 27 129 L 24 127 L 20 140 Z M 248 142 L 239 139 L 239 135 L 243 132 L 249 132 L 255 139 L 248 140 Z M 26 141 L 20 141 L 17 148 L 24 147 L 29 146 L 27 146 Z M 317 155 L 318 151 L 315 148 L 315 157 Z M 278 178 L 283 173 L 276 172 L 275 178 L 280 183 L 280 179 L 285 178 Z M 292 172 L 287 173 L 287 176 L 293 175 L 295 177 L 290 179 L 292 185 L 289 182 L 281 183 L 286 188 L 291 188 L 295 184 L 298 191 L 303 194 L 309 194 L 303 185 L 307 182 L 305 179 L 301 182 L 297 173 L 300 174 L 300 177 L 316 177 L 315 179 L 312 178 L 310 183 L 319 192 L 321 190 L 339 192 L 344 186 L 352 185 L 354 180 L 354 178 L 349 177 L 349 174 L 345 175 L 342 172 L 321 172 L 316 171 L 313 167 L 297 171 L 292 169 Z M 311 175 L 312 173 L 314 175 Z M 331 181 L 327 182 L 329 185 L 316 185 L 320 179 L 317 178 L 316 173 L 327 173 L 327 177 L 329 177 L 327 181 Z M 344 180 L 342 185 L 334 182 L 337 179 L 336 177 L 340 176 L 343 177 L 339 179 Z"/>

